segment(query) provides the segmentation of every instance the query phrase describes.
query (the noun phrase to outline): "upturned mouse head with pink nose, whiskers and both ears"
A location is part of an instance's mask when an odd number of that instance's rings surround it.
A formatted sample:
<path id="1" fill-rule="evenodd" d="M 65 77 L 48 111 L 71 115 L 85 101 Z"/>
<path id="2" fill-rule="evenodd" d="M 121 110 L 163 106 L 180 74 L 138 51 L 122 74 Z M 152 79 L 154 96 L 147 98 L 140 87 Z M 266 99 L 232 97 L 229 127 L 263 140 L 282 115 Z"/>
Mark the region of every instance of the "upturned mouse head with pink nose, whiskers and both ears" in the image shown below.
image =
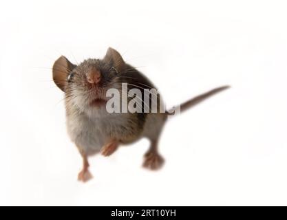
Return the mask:
<path id="1" fill-rule="evenodd" d="M 107 89 L 120 88 L 116 80 L 125 68 L 122 56 L 109 47 L 103 59 L 87 59 L 79 65 L 61 56 L 53 65 L 53 80 L 66 100 L 85 108 L 105 101 Z"/>

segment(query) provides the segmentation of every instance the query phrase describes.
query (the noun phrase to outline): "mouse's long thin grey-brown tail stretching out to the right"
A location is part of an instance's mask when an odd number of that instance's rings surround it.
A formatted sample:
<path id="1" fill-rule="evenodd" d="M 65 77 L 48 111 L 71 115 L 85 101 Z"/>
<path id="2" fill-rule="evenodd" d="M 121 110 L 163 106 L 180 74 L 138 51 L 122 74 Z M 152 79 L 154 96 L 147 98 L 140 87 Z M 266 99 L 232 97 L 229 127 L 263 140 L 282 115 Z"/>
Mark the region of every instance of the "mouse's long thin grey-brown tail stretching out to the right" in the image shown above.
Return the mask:
<path id="1" fill-rule="evenodd" d="M 191 100 L 188 100 L 187 102 L 184 102 L 178 106 L 178 107 L 180 107 L 180 113 L 182 113 L 183 111 L 190 109 L 191 107 L 195 106 L 196 104 L 199 104 L 200 102 L 206 100 L 206 98 L 209 98 L 209 97 L 219 93 L 220 91 L 224 91 L 225 89 L 228 89 L 228 88 L 230 88 L 230 86 L 226 85 L 223 87 L 218 87 L 218 88 L 212 89 L 211 91 L 207 91 L 206 93 L 201 94 L 199 96 L 195 96 Z M 166 111 L 166 113 L 168 115 L 174 115 L 175 109 L 177 109 L 178 107 L 173 107 L 169 111 Z"/>

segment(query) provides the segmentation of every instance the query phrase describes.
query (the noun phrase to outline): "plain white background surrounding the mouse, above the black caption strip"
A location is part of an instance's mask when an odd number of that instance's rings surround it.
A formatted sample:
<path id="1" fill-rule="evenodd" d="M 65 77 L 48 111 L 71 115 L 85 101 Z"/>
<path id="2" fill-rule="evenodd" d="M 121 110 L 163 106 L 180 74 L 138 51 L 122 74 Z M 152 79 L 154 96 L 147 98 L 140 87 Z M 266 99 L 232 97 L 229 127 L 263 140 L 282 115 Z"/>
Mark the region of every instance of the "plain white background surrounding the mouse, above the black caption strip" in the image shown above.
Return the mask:
<path id="1" fill-rule="evenodd" d="M 2 1 L 1 205 L 287 205 L 286 1 Z M 107 47 L 144 72 L 169 107 L 232 88 L 169 121 L 159 172 L 147 140 L 90 159 L 65 129 L 52 82 Z"/>

